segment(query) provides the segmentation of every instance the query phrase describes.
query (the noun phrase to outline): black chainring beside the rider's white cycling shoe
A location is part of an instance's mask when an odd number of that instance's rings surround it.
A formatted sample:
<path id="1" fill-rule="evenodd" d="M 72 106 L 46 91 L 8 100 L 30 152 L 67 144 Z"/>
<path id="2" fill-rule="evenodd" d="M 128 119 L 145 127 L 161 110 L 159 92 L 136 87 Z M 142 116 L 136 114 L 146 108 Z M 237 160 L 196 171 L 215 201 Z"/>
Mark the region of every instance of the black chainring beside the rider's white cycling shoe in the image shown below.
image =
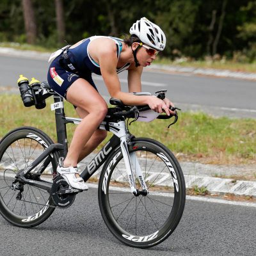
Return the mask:
<path id="1" fill-rule="evenodd" d="M 58 175 L 54 178 L 52 183 L 51 195 L 54 204 L 62 209 L 70 207 L 74 203 L 76 193 L 63 194 L 61 190 L 70 188 L 68 182 L 61 176 Z"/>

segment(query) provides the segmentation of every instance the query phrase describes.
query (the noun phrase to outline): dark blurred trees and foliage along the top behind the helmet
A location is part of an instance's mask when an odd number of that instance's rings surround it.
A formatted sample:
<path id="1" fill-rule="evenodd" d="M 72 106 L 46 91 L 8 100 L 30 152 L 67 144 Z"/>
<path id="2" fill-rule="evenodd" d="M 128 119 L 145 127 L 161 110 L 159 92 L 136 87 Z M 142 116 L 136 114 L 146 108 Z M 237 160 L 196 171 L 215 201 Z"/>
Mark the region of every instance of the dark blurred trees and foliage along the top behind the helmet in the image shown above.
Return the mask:
<path id="1" fill-rule="evenodd" d="M 253 0 L 1 0 L 0 42 L 56 48 L 92 35 L 122 37 L 141 17 L 166 33 L 163 56 L 255 62 Z"/>

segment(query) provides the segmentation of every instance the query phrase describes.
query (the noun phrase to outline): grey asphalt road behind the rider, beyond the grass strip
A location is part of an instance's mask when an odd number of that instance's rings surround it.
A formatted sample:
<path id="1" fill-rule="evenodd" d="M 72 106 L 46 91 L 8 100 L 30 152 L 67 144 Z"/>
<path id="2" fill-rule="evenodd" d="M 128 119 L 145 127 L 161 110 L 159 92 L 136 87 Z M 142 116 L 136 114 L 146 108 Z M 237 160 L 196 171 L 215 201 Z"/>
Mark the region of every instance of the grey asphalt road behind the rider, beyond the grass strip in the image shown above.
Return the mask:
<path id="1" fill-rule="evenodd" d="M 40 81 L 47 77 L 45 60 L 0 56 L 0 86 L 17 90 L 19 74 L 35 76 Z M 147 69 L 145 69 L 147 70 Z M 127 91 L 127 73 L 120 74 L 122 90 Z M 102 77 L 94 76 L 99 92 L 108 97 Z M 212 115 L 243 116 L 256 118 L 255 81 L 219 77 L 189 76 L 164 72 L 143 72 L 144 92 L 154 93 L 168 89 L 168 97 L 182 110 L 202 110 Z"/>

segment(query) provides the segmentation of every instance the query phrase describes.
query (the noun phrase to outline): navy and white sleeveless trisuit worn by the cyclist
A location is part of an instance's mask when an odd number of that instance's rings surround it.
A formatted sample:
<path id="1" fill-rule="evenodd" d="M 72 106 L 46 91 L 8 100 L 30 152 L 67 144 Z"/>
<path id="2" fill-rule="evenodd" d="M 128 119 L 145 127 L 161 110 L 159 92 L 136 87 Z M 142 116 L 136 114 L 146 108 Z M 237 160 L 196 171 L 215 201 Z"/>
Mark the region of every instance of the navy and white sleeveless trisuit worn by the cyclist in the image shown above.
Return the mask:
<path id="1" fill-rule="evenodd" d="M 114 40 L 116 43 L 117 58 L 120 57 L 120 53 L 122 51 L 122 39 L 114 38 L 111 36 L 91 36 L 90 38 L 86 38 L 82 40 L 79 45 L 72 49 L 69 48 L 67 51 L 68 60 L 70 63 L 72 63 L 72 65 L 74 65 L 74 67 L 76 67 L 77 72 L 72 72 L 72 70 L 69 68 L 65 68 L 63 65 L 61 65 L 61 54 L 52 61 L 47 75 L 47 80 L 52 90 L 66 99 L 68 88 L 72 83 L 74 83 L 74 81 L 79 78 L 85 79 L 90 84 L 92 84 L 95 90 L 97 90 L 92 79 L 92 73 L 101 75 L 100 66 L 99 63 L 94 61 L 90 56 L 88 52 L 88 45 L 90 42 L 100 37 L 107 37 Z M 120 73 L 129 68 L 130 65 L 131 63 L 126 63 L 123 67 L 116 68 L 116 72 Z"/>

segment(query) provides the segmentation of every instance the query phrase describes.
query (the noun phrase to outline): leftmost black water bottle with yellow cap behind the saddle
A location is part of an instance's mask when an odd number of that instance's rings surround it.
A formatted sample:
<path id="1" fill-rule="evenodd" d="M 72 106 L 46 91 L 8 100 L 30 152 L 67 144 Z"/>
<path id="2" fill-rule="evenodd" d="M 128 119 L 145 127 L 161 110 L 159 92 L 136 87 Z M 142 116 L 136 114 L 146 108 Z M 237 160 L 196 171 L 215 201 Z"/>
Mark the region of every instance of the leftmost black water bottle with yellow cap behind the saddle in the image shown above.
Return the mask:
<path id="1" fill-rule="evenodd" d="M 20 78 L 17 81 L 20 89 L 20 97 L 23 101 L 25 107 L 31 107 L 35 104 L 35 99 L 29 87 L 28 78 L 20 75 Z"/>

